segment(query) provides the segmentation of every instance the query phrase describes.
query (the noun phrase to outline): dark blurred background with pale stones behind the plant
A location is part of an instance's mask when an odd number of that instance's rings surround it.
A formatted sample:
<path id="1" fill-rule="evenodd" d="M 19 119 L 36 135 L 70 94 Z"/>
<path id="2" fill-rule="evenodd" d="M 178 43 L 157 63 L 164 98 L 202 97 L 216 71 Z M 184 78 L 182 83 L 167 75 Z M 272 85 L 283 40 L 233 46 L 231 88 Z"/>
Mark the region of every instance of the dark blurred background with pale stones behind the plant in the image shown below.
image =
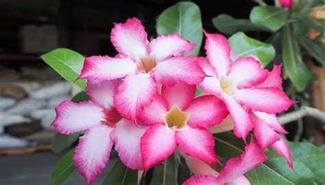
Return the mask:
<path id="1" fill-rule="evenodd" d="M 0 0 L 1 185 L 48 184 L 54 165 L 64 154 L 51 151 L 51 140 L 56 134 L 51 127 L 56 116 L 54 108 L 61 101 L 71 99 L 80 89 L 65 82 L 40 59 L 40 55 L 66 47 L 84 56 L 115 56 L 117 51 L 110 42 L 114 22 L 125 22 L 135 16 L 141 19 L 149 36 L 156 36 L 158 14 L 177 2 Z M 211 21 L 217 14 L 248 18 L 256 5 L 249 0 L 193 2 L 200 7 L 203 27 L 208 32 L 218 32 Z M 248 35 L 260 39 L 268 36 L 254 32 Z M 276 56 L 276 60 L 280 57 Z M 304 60 L 308 62 L 311 58 Z M 318 79 L 300 95 L 308 105 L 325 111 L 324 69 L 313 66 L 311 70 Z M 289 140 L 309 140 L 315 145 L 324 145 L 324 124 L 314 119 L 301 119 L 299 124 L 287 124 L 286 129 L 291 133 Z M 103 180 L 103 174 L 96 182 Z M 83 177 L 76 172 L 66 182 L 84 183 Z"/>

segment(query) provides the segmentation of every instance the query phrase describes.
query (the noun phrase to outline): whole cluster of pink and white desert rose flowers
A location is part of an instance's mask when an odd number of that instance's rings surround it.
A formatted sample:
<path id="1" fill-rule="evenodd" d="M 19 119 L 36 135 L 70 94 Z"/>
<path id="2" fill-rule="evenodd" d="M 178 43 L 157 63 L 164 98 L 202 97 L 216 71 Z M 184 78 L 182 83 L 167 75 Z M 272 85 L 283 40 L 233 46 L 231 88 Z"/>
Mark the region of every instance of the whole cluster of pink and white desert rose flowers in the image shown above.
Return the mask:
<path id="1" fill-rule="evenodd" d="M 280 66 L 269 72 L 254 56 L 236 59 L 224 36 L 204 34 L 208 60 L 182 56 L 195 45 L 178 34 L 149 42 L 141 22 L 130 18 L 112 29 L 117 56 L 86 58 L 79 79 L 88 80 L 91 100 L 60 103 L 53 126 L 62 134 L 86 131 L 73 161 L 88 184 L 103 171 L 113 145 L 127 167 L 140 171 L 179 153 L 195 173 L 184 184 L 249 184 L 243 174 L 267 160 L 263 150 L 271 145 L 292 167 L 277 133 L 287 132 L 276 113 L 293 103 L 280 89 Z M 204 95 L 195 98 L 197 85 Z M 219 162 L 209 130 L 228 114 L 234 134 L 246 143 L 254 127 L 257 143 L 251 139 L 218 173 L 208 165 Z"/>

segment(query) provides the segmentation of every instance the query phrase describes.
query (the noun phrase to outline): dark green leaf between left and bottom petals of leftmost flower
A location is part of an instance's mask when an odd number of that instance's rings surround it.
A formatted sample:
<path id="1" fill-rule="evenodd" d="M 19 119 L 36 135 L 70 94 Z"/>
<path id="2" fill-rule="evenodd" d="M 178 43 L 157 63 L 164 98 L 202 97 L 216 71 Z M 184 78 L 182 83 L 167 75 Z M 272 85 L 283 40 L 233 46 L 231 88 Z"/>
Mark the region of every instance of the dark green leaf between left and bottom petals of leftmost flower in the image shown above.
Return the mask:
<path id="1" fill-rule="evenodd" d="M 64 134 L 56 133 L 51 143 L 51 150 L 54 151 L 55 153 L 59 153 L 60 151 L 67 149 L 78 140 L 81 134 L 82 133 L 64 135 Z"/>

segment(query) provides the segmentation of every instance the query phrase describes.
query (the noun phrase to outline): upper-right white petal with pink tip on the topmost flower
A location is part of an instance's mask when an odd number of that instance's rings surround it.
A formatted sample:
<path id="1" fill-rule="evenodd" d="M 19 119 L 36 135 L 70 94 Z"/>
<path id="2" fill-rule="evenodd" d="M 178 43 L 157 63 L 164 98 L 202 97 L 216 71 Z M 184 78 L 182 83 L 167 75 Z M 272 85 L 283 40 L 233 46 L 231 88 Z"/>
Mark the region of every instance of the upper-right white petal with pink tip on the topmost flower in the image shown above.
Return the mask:
<path id="1" fill-rule="evenodd" d="M 167 36 L 158 36 L 149 44 L 150 55 L 158 59 L 164 60 L 171 56 L 182 56 L 184 52 L 192 51 L 195 44 L 184 40 L 179 34 L 169 34 Z"/>

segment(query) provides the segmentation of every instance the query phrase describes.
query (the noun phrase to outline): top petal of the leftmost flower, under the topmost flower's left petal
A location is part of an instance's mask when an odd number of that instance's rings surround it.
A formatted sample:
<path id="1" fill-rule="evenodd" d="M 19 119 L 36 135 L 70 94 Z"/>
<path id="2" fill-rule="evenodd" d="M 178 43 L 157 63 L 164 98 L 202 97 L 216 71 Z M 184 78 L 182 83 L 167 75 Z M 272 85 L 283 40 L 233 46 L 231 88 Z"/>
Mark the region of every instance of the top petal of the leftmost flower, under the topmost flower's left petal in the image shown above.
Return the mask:
<path id="1" fill-rule="evenodd" d="M 91 100 L 99 106 L 110 109 L 114 107 L 113 96 L 117 92 L 120 79 L 98 81 L 95 79 L 88 79 L 86 93 Z"/>

